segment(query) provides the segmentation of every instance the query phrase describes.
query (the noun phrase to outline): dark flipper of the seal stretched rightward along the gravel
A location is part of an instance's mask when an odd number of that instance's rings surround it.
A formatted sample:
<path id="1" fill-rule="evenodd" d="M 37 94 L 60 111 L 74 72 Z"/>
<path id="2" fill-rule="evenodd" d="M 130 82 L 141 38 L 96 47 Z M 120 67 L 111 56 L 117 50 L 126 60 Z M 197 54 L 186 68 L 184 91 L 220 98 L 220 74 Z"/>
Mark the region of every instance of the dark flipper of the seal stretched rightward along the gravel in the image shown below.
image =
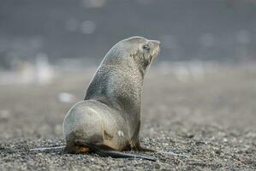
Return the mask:
<path id="1" fill-rule="evenodd" d="M 156 162 L 158 158 L 154 156 L 140 155 L 140 154 L 128 154 L 122 151 L 114 150 L 105 144 L 91 144 L 86 142 L 77 141 L 75 144 L 86 145 L 92 152 L 99 156 L 110 156 L 113 158 L 141 158 L 149 161 Z"/>

